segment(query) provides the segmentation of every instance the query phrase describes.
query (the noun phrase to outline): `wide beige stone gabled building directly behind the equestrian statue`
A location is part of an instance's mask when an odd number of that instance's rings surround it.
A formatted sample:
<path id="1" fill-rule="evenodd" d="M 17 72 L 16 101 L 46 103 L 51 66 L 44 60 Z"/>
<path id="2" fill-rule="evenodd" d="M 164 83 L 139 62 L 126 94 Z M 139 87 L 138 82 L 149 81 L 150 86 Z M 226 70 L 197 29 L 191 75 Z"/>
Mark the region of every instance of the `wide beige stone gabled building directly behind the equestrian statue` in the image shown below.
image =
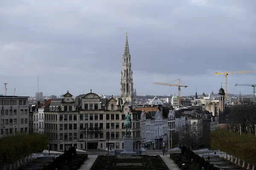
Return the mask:
<path id="1" fill-rule="evenodd" d="M 131 113 L 131 135 L 134 149 L 141 148 L 140 115 L 125 102 L 101 99 L 95 93 L 79 95 L 74 100 L 67 91 L 64 99 L 53 99 L 44 108 L 44 133 L 49 136 L 51 150 L 123 149 L 125 114 Z M 87 145 L 86 145 L 87 144 Z"/>

